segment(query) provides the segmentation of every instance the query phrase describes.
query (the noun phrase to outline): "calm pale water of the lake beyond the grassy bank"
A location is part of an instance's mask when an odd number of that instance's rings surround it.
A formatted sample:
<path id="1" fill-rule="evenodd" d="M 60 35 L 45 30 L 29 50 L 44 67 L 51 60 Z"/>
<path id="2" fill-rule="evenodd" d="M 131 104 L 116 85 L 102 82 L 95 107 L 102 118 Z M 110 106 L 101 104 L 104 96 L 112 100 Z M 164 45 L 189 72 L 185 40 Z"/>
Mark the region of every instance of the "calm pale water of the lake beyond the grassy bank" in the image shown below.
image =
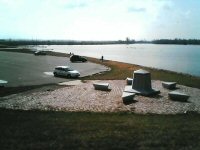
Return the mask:
<path id="1" fill-rule="evenodd" d="M 51 45 L 39 49 L 127 62 L 200 76 L 200 46 L 195 45 Z"/>

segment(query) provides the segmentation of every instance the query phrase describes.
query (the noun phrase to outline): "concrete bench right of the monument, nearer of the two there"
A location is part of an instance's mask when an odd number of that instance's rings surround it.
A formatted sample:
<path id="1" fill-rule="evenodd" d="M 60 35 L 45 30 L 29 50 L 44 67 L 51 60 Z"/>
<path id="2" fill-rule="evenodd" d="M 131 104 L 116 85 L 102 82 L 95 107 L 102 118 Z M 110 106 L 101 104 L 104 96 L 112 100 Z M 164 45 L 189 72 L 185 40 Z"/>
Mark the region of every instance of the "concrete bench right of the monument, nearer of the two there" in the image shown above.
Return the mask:
<path id="1" fill-rule="evenodd" d="M 168 96 L 171 100 L 182 101 L 182 102 L 186 102 L 188 98 L 190 97 L 189 95 L 185 93 L 176 92 L 176 91 L 169 92 Z"/>

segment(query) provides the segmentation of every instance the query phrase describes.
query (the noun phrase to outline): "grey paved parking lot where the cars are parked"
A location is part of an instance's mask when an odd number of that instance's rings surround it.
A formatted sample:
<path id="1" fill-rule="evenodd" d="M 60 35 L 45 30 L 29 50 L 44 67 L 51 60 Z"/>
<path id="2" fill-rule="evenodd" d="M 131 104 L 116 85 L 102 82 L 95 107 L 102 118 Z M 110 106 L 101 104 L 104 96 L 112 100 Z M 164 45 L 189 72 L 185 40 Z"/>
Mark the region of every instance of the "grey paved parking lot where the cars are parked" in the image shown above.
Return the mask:
<path id="1" fill-rule="evenodd" d="M 0 52 L 0 80 L 8 81 L 6 86 L 41 85 L 66 82 L 71 79 L 53 76 L 55 66 L 68 65 L 81 73 L 81 77 L 106 71 L 107 68 L 94 63 L 71 63 L 69 58 L 55 56 L 34 56 L 33 54 Z"/>

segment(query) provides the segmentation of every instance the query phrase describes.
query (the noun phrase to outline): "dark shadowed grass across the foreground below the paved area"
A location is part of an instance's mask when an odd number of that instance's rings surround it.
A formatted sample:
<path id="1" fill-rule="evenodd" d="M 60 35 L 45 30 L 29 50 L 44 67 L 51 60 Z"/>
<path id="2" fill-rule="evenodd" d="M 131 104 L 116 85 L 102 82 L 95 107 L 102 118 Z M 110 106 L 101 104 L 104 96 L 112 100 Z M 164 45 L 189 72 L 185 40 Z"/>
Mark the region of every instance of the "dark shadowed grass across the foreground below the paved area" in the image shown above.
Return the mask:
<path id="1" fill-rule="evenodd" d="M 199 149 L 200 115 L 0 109 L 0 149 Z"/>

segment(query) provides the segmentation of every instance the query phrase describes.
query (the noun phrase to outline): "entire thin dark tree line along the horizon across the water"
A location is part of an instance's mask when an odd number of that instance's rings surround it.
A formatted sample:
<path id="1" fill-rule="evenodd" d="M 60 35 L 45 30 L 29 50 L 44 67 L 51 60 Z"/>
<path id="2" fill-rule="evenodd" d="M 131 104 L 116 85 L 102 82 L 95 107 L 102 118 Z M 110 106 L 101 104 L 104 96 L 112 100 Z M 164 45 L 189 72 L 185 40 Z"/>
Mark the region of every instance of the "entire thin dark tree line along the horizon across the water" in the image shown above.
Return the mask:
<path id="1" fill-rule="evenodd" d="M 158 39 L 153 41 L 135 41 L 129 38 L 118 41 L 72 41 L 72 40 L 12 40 L 0 39 L 0 45 L 106 45 L 106 44 L 180 44 L 180 45 L 200 45 L 198 39 Z"/>

